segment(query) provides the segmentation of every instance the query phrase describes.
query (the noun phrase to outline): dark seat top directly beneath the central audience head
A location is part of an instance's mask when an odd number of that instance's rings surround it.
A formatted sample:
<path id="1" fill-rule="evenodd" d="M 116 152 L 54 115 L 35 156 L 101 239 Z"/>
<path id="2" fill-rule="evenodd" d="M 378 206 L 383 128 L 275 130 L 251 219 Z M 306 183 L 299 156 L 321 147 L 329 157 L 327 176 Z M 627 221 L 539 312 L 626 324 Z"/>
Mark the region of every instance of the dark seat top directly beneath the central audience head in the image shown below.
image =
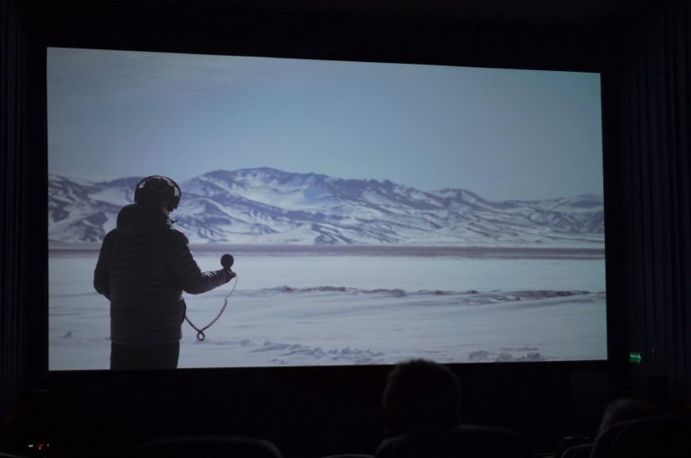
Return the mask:
<path id="1" fill-rule="evenodd" d="M 527 458 L 520 436 L 504 427 L 459 425 L 396 436 L 381 443 L 376 458 Z"/>

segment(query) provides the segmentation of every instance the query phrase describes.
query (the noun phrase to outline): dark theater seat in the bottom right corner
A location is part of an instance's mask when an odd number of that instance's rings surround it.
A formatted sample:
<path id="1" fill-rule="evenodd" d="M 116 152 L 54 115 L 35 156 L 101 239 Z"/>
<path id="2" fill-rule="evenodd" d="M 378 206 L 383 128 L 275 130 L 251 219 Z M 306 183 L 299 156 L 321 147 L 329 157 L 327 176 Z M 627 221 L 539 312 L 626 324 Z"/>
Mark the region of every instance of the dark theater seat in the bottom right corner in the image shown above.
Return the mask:
<path id="1" fill-rule="evenodd" d="M 595 458 L 688 458 L 691 416 L 643 418 L 617 423 L 595 440 Z"/>

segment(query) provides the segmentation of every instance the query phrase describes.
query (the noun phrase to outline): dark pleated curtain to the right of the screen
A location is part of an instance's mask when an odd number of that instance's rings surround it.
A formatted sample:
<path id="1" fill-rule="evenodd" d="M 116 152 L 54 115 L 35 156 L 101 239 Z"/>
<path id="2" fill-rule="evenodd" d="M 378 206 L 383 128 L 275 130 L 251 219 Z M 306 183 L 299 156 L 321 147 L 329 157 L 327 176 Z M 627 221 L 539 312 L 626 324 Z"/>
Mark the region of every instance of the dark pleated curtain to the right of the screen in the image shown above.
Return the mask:
<path id="1" fill-rule="evenodd" d="M 657 2 L 625 55 L 631 348 L 654 396 L 691 397 L 691 3 Z"/>

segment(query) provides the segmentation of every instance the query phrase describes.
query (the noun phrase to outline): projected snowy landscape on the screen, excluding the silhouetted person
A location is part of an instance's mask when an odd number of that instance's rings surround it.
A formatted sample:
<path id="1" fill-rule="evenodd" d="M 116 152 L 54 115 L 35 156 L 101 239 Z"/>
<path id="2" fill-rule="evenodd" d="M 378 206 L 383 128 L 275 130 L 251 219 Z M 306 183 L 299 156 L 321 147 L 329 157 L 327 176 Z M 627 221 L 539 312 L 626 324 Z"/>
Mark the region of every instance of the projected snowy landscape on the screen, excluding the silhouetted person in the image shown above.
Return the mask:
<path id="1" fill-rule="evenodd" d="M 607 358 L 598 74 L 73 48 L 47 65 L 51 370 L 109 368 L 94 269 L 148 175 L 179 184 L 199 267 L 230 253 L 238 276 L 183 295 L 197 327 L 217 320 L 200 340 L 179 316 L 178 367 Z"/>

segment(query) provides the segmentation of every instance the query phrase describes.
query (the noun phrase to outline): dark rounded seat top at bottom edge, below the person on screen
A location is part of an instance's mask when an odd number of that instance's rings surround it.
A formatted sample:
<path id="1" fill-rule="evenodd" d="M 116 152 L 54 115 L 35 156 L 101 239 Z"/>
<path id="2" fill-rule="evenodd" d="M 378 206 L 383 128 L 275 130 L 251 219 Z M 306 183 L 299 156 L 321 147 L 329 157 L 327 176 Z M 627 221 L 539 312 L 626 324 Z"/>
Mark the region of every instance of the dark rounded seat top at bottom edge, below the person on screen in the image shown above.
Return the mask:
<path id="1" fill-rule="evenodd" d="M 282 458 L 267 440 L 238 436 L 167 437 L 136 446 L 128 458 Z"/>

